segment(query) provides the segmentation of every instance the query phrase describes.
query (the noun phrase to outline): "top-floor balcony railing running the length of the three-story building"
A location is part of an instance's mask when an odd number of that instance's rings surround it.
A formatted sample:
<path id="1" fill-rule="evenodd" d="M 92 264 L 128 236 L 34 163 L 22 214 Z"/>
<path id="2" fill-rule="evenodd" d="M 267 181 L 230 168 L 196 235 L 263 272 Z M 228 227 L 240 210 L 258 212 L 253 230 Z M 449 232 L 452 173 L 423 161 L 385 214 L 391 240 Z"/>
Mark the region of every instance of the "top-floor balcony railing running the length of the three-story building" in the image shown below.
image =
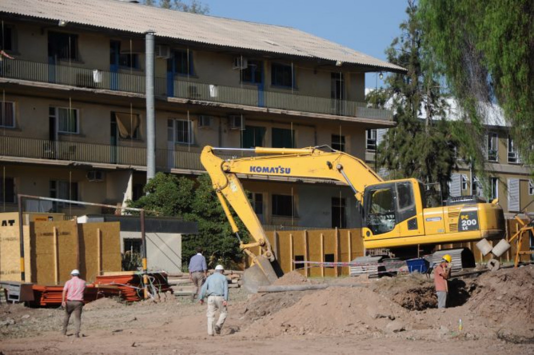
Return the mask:
<path id="1" fill-rule="evenodd" d="M 0 61 L 0 76 L 18 80 L 62 84 L 78 88 L 145 93 L 145 76 L 93 70 L 74 66 L 51 65 L 27 60 Z M 246 89 L 213 85 L 175 78 L 155 77 L 156 96 L 281 109 L 296 112 L 359 117 L 392 121 L 390 110 L 366 102 L 305 96 L 298 93 Z"/>

